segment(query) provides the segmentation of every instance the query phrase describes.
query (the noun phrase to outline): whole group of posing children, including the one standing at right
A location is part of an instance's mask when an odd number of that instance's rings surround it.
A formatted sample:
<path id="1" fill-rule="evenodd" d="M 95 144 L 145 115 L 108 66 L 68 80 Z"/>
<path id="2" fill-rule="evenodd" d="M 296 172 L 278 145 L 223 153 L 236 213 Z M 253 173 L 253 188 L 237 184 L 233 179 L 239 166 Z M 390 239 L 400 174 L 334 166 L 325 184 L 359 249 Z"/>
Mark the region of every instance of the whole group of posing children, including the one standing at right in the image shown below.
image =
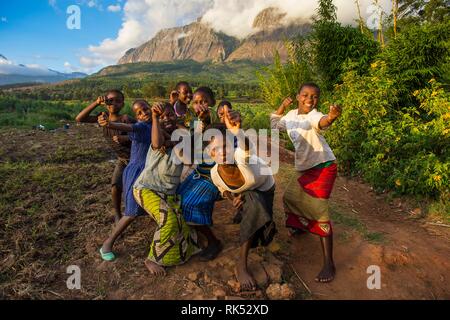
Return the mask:
<path id="1" fill-rule="evenodd" d="M 318 112 L 319 96 L 317 85 L 303 85 L 297 95 L 298 108 L 283 116 L 293 103 L 286 99 L 271 115 L 271 124 L 274 129 L 287 130 L 296 149 L 298 175 L 283 197 L 286 226 L 292 235 L 309 231 L 320 236 L 324 267 L 316 280 L 329 282 L 334 278 L 335 267 L 327 199 L 337 166 L 321 131 L 337 119 L 340 108 L 330 107 L 328 115 Z M 169 101 L 150 106 L 137 100 L 132 105 L 132 119 L 120 114 L 124 96 L 112 90 L 77 116 L 79 122 L 98 123 L 117 155 L 111 183 L 116 223 L 100 248 L 100 255 L 105 261 L 115 260 L 113 246 L 117 238 L 136 217 L 149 215 L 156 223 L 145 260 L 152 275 L 165 275 L 166 267 L 183 264 L 197 254 L 201 261 L 213 260 L 223 249 L 211 228 L 213 209 L 216 201 L 228 199 L 237 212 L 234 221 L 240 224 L 236 277 L 241 290 L 255 290 L 256 282 L 247 266 L 249 250 L 267 246 L 277 232 L 273 221 L 272 171 L 261 158 L 251 154 L 249 140 L 239 134 L 240 114 L 228 101 L 215 108 L 210 88 L 200 87 L 193 92 L 187 82 L 180 82 Z M 107 110 L 92 115 L 100 105 Z M 173 141 L 176 130 L 176 136 L 181 138 Z M 194 137 L 208 130 L 219 134 L 208 135 L 211 138 L 201 143 L 201 153 L 206 156 L 194 164 Z M 234 138 L 229 139 L 227 132 Z"/>

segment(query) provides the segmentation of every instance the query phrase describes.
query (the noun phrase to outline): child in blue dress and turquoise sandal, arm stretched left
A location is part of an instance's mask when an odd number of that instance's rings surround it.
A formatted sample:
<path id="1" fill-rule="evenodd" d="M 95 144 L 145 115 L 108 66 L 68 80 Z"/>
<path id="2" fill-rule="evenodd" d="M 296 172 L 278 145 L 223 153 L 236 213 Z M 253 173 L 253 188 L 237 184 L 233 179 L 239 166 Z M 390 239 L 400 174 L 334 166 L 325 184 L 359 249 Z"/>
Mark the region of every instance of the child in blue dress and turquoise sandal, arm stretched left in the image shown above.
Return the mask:
<path id="1" fill-rule="evenodd" d="M 112 234 L 106 239 L 100 249 L 102 259 L 105 261 L 115 259 L 115 255 L 112 252 L 114 242 L 137 216 L 145 214 L 134 199 L 133 184 L 145 167 L 145 159 L 150 147 L 151 111 L 148 103 L 144 100 L 135 101 L 132 109 L 138 120 L 138 123 L 133 125 L 110 122 L 105 115 L 100 115 L 98 120 L 102 127 L 130 132 L 129 136 L 132 141 L 130 163 L 123 172 L 125 215 L 119 220 Z"/>

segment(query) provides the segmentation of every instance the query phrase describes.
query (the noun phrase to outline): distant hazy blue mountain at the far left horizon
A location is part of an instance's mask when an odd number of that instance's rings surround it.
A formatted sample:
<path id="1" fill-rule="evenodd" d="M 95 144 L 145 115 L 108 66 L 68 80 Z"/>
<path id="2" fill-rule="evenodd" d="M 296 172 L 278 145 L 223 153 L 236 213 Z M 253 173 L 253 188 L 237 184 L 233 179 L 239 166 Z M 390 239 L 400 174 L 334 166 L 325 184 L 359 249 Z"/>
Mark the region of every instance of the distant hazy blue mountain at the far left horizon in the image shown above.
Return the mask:
<path id="1" fill-rule="evenodd" d="M 53 83 L 69 79 L 80 79 L 87 74 L 81 72 L 62 73 L 39 66 L 14 64 L 0 54 L 0 85 L 16 83 Z"/>

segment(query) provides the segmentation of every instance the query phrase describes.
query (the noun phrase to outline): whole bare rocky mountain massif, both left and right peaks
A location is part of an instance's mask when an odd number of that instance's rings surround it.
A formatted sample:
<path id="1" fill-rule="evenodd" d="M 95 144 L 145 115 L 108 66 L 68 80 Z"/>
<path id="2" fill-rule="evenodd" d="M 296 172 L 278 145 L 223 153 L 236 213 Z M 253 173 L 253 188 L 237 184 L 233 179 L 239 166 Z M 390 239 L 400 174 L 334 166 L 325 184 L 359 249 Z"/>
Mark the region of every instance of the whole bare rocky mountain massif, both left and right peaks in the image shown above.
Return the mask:
<path id="1" fill-rule="evenodd" d="M 286 21 L 286 13 L 274 7 L 264 9 L 256 16 L 254 32 L 242 40 L 216 32 L 200 20 L 159 31 L 150 41 L 128 50 L 118 64 L 178 60 L 271 63 L 276 50 L 284 61 L 288 55 L 285 41 L 310 31 L 310 24 Z"/>

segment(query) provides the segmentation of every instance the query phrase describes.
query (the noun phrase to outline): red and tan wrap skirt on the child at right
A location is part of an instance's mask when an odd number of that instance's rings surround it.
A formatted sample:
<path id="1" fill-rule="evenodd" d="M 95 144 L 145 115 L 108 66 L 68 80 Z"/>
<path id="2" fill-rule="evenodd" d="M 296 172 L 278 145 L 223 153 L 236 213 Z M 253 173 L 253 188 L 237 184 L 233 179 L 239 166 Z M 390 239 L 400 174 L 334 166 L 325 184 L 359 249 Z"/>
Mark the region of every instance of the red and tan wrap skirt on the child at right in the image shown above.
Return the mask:
<path id="1" fill-rule="evenodd" d="M 337 165 L 299 172 L 283 196 L 286 227 L 327 237 L 332 234 L 328 199 L 337 176 Z"/>

